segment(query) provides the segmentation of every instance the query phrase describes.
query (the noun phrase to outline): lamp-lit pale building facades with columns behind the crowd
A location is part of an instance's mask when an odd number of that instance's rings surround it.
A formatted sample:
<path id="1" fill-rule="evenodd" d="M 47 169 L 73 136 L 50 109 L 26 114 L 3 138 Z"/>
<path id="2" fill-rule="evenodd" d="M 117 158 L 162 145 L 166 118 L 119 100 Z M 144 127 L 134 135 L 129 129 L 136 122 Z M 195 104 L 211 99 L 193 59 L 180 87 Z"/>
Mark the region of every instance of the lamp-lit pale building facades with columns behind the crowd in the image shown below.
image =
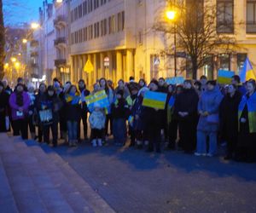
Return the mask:
<path id="1" fill-rule="evenodd" d="M 256 0 L 201 1 L 216 8 L 216 32 L 235 37 L 238 48 L 230 54 L 206 55 L 198 76 L 217 78 L 219 69 L 239 73 L 247 56 L 256 66 Z M 49 79 L 77 83 L 84 78 L 92 86 L 99 78 L 117 83 L 130 76 L 147 82 L 174 76 L 174 56 L 162 54 L 166 48 L 175 49 L 173 35 L 154 30 L 165 15 L 165 0 L 44 2 L 42 61 Z M 186 56 L 177 55 L 177 75 L 191 78 Z"/>

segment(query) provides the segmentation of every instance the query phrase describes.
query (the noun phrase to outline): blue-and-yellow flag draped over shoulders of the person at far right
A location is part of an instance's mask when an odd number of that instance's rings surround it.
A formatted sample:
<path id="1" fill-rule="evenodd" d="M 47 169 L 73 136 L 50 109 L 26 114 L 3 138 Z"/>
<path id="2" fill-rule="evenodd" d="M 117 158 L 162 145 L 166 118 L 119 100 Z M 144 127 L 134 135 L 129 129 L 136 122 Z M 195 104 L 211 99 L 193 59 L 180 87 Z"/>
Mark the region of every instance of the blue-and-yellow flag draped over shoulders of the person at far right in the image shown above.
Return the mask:
<path id="1" fill-rule="evenodd" d="M 248 108 L 248 123 L 250 133 L 256 133 L 256 92 L 254 92 L 250 97 L 247 97 L 247 95 L 242 96 L 238 107 L 238 124 L 240 124 L 241 113 L 246 105 Z"/>

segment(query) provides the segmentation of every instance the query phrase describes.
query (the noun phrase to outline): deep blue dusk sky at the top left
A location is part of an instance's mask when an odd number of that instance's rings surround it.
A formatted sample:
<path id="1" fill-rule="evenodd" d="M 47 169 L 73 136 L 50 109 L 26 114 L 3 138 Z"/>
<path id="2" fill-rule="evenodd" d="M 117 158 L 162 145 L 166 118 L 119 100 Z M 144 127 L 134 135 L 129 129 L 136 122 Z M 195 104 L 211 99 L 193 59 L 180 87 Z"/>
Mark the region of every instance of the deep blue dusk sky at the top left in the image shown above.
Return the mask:
<path id="1" fill-rule="evenodd" d="M 3 0 L 5 25 L 20 26 L 24 22 L 37 21 L 38 8 L 42 5 L 43 0 Z"/>

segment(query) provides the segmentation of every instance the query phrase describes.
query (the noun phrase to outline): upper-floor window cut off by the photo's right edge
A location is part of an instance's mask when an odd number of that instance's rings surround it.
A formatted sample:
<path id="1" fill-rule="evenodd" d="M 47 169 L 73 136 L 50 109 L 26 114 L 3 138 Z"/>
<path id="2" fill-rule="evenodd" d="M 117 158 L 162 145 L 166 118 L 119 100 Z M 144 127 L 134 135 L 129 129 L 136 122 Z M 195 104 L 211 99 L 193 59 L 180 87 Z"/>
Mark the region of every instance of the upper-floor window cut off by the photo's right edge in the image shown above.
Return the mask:
<path id="1" fill-rule="evenodd" d="M 256 0 L 247 0 L 247 33 L 256 33 Z"/>

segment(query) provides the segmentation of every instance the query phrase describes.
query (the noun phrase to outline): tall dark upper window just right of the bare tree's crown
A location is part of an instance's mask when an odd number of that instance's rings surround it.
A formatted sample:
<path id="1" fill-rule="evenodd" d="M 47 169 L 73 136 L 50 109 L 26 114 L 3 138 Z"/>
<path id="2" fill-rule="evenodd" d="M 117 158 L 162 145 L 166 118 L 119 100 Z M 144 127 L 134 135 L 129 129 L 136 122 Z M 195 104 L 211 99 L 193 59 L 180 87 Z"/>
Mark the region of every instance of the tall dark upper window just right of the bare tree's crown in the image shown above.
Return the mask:
<path id="1" fill-rule="evenodd" d="M 217 1 L 217 32 L 234 32 L 234 0 Z"/>

